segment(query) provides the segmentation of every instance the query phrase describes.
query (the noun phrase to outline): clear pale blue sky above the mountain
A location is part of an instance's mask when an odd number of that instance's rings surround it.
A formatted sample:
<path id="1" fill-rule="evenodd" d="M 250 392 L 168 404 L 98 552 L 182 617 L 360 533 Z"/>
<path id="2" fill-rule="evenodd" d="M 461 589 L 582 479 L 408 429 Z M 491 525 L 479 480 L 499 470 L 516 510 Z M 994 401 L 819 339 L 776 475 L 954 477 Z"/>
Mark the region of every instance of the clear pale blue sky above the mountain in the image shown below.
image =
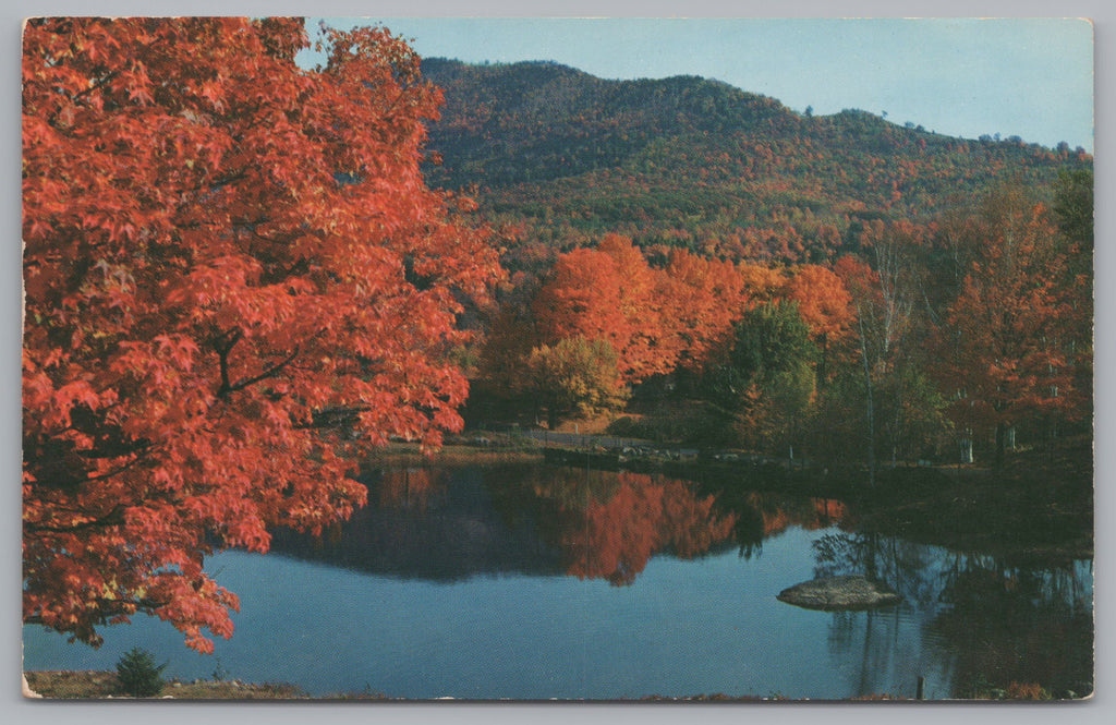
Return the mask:
<path id="1" fill-rule="evenodd" d="M 795 111 L 1093 151 L 1093 26 L 1077 19 L 330 18 L 424 57 L 556 60 L 603 78 L 716 78 Z M 316 28 L 317 19 L 310 21 Z"/>

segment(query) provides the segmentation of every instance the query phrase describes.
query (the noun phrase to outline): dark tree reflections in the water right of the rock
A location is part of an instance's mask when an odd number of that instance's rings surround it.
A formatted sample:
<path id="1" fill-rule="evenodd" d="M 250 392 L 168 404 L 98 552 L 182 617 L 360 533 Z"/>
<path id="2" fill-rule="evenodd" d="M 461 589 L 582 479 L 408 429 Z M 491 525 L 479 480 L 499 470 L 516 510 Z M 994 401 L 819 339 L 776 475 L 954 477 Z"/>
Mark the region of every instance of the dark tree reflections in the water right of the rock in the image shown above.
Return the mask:
<path id="1" fill-rule="evenodd" d="M 864 532 L 815 542 L 816 574 L 864 574 L 904 597 L 894 608 L 838 612 L 830 624 L 835 659 L 856 662 L 859 695 L 897 693 L 873 681 L 889 658 L 947 662 L 947 697 L 990 697 L 1037 684 L 1051 697 L 1093 690 L 1091 562 L 1017 565 Z M 921 614 L 931 652 L 899 638 L 901 621 Z M 907 651 L 910 650 L 910 651 Z M 921 675 L 913 665 L 908 687 Z"/>

